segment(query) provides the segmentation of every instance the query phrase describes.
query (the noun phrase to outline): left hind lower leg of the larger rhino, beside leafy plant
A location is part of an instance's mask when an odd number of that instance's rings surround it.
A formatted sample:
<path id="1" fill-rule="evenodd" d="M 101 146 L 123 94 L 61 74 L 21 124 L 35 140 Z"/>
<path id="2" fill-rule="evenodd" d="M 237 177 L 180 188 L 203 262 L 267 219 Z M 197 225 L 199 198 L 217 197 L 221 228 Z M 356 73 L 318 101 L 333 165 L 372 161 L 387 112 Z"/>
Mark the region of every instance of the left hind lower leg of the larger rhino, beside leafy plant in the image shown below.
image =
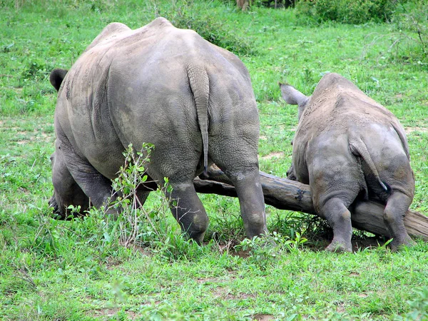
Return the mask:
<path id="1" fill-rule="evenodd" d="M 202 244 L 209 220 L 193 183 L 170 184 L 172 192 L 166 194 L 170 198 L 170 210 L 174 218 L 185 235 Z"/>

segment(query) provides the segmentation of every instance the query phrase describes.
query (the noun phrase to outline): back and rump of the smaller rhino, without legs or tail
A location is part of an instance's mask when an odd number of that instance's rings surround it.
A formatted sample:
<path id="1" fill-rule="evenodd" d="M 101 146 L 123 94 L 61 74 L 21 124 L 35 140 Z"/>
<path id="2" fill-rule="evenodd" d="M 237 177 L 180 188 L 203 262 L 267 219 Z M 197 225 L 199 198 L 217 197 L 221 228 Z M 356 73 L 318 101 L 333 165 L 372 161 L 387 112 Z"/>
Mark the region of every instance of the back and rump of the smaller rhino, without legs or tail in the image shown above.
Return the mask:
<path id="1" fill-rule="evenodd" d="M 409 149 L 397 118 L 342 76 L 325 76 L 308 101 L 297 127 L 293 144 L 297 178 L 309 183 L 309 172 L 315 164 L 320 168 L 324 164 L 325 172 L 332 171 L 328 166 L 345 163 L 355 166 L 350 148 L 350 142 L 355 140 L 364 141 L 382 180 L 392 189 L 412 194 Z M 327 161 L 332 158 L 337 161 Z M 371 188 L 380 190 L 379 181 L 374 179 L 365 162 L 361 174 L 363 172 L 364 175 L 353 174 L 355 182 L 365 185 L 367 181 Z"/>

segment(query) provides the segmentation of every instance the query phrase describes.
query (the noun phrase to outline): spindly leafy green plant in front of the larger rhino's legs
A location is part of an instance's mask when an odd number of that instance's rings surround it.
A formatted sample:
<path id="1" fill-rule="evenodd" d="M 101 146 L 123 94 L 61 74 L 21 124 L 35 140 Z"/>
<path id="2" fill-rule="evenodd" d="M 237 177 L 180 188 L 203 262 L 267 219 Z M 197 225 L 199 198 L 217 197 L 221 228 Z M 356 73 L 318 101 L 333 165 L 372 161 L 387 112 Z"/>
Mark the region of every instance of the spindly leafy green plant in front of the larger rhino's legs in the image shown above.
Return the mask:
<path id="1" fill-rule="evenodd" d="M 143 144 L 141 151 L 134 151 L 132 144 L 123 153 L 125 163 L 118 171 L 118 177 L 113 180 L 113 202 L 107 209 L 120 211 L 117 219 L 119 243 L 130 247 L 150 248 L 153 253 L 163 255 L 170 260 L 193 258 L 200 253 L 200 247 L 192 240 L 186 240 L 180 233 L 178 225 L 171 223 L 168 208 L 171 201 L 161 197 L 161 204 L 154 210 L 146 210 L 138 194 L 138 188 L 147 182 L 146 165 L 150 161 L 151 144 Z M 153 182 L 151 182 L 153 183 Z M 158 192 L 170 192 L 168 178 L 164 178 L 163 187 Z M 146 197 L 143 196 L 143 197 Z"/>

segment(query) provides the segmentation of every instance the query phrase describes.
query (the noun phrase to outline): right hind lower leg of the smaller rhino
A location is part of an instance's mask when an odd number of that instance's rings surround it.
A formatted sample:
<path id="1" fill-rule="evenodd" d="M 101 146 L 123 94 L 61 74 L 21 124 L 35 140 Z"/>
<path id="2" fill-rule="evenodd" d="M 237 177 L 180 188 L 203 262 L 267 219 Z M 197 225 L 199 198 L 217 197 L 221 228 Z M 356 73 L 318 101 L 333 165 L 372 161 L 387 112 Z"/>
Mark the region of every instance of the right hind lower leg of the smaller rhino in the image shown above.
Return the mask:
<path id="1" fill-rule="evenodd" d="M 392 250 L 399 250 L 402 245 L 414 244 L 404 227 L 404 215 L 409 209 L 410 203 L 412 203 L 412 198 L 399 191 L 394 191 L 387 200 L 384 209 L 384 223 L 392 237 L 392 242 L 389 243 Z"/>

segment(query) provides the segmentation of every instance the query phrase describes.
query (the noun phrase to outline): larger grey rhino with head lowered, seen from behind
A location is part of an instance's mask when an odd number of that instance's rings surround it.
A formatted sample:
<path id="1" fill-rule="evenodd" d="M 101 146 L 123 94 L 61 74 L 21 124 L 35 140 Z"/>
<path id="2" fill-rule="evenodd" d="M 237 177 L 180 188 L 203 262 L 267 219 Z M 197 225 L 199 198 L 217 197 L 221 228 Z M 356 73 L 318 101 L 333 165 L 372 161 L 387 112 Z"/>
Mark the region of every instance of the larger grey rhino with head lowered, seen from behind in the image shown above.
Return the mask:
<path id="1" fill-rule="evenodd" d="M 51 81 L 61 87 L 50 203 L 61 215 L 89 200 L 105 206 L 124 149 L 152 143 L 148 180 L 169 179 L 171 211 L 190 238 L 201 243 L 208 227 L 192 180 L 212 163 L 235 184 L 248 237 L 266 233 L 258 109 L 238 57 L 163 18 L 136 30 L 113 23 Z"/>

